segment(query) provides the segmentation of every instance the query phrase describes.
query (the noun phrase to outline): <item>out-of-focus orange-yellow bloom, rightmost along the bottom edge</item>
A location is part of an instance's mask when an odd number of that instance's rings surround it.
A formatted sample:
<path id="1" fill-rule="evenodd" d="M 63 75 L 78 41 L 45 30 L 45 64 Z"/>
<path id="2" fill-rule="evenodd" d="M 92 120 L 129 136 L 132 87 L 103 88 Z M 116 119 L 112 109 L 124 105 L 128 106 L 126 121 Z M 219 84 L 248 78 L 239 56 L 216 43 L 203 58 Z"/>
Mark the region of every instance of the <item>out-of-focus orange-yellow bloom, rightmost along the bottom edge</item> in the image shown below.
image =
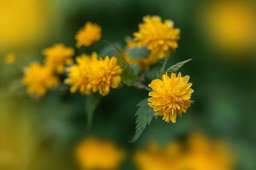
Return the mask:
<path id="1" fill-rule="evenodd" d="M 235 158 L 225 142 L 210 141 L 193 133 L 187 144 L 182 169 L 189 170 L 234 170 Z"/>

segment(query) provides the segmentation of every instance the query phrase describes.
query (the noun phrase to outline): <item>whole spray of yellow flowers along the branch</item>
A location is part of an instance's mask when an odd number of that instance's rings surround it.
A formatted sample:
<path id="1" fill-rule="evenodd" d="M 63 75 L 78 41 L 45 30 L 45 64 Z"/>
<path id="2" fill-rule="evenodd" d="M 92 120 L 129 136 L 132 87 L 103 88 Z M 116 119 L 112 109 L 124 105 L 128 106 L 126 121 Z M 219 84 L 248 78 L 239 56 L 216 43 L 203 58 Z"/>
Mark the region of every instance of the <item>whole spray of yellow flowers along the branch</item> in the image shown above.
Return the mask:
<path id="1" fill-rule="evenodd" d="M 126 39 L 124 51 L 112 44 L 117 49 L 117 57 L 105 54 L 99 54 L 105 57 L 98 57 L 97 52 L 92 52 L 91 55 L 83 53 L 75 57 L 74 63 L 75 51 L 72 47 L 59 43 L 43 49 L 44 65 L 33 63 L 25 72 L 23 84 L 27 86 L 28 94 L 45 95 L 47 89 L 58 85 L 59 79 L 54 73 L 62 74 L 64 71 L 67 73 L 64 84 L 70 85 L 71 93 L 79 91 L 82 95 L 90 95 L 99 92 L 105 96 L 110 93 L 110 88 L 119 87 L 121 77 L 124 78 L 124 85 L 148 89 L 141 83 L 140 73 L 135 73 L 128 63 L 138 64 L 140 72 L 148 71 L 151 65 L 166 56 L 169 46 L 173 50 L 178 47 L 180 30 L 174 28 L 171 20 L 162 22 L 159 16 L 147 15 L 143 18 L 143 23 L 139 24 L 139 31 L 133 35 L 133 39 Z M 88 47 L 100 38 L 101 26 L 86 22 L 75 35 L 76 47 Z M 186 113 L 193 102 L 190 100 L 192 83 L 188 81 L 188 75 L 181 77 L 179 73 L 176 77 L 175 73 L 171 73 L 168 77 L 166 72 L 162 75 L 162 80 L 154 79 L 148 85 L 152 88 L 148 94 L 148 105 L 156 112 L 155 115 L 175 123 L 177 115 L 181 117 L 182 113 Z"/>

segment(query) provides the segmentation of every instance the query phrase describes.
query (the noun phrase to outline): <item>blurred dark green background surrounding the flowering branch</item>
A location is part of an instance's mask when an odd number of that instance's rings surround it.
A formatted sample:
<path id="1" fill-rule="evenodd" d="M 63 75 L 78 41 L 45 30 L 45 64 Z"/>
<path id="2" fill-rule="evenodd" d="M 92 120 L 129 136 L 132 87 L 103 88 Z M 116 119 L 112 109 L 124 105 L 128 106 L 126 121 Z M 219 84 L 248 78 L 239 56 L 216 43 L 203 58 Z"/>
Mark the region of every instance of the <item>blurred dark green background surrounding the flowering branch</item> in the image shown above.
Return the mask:
<path id="1" fill-rule="evenodd" d="M 255 9 L 254 1 L 227 0 L 1 0 L 0 169 L 76 170 L 74 146 L 88 135 L 109 139 L 132 154 L 150 139 L 164 146 L 198 130 L 225 139 L 238 157 L 238 170 L 255 170 Z M 74 47 L 74 35 L 86 21 L 102 27 L 101 40 L 124 46 L 124 37 L 132 37 L 148 14 L 171 19 L 181 30 L 168 64 L 193 58 L 180 71 L 190 75 L 195 102 L 175 124 L 153 119 L 130 144 L 135 105 L 147 91 L 111 89 L 97 107 L 90 132 L 85 96 L 49 91 L 33 100 L 25 95 L 22 69 L 43 61 L 42 49 L 59 42 Z M 99 49 L 106 45 L 97 42 Z M 17 56 L 14 66 L 4 63 L 9 52 Z M 136 167 L 127 159 L 119 169 Z"/>

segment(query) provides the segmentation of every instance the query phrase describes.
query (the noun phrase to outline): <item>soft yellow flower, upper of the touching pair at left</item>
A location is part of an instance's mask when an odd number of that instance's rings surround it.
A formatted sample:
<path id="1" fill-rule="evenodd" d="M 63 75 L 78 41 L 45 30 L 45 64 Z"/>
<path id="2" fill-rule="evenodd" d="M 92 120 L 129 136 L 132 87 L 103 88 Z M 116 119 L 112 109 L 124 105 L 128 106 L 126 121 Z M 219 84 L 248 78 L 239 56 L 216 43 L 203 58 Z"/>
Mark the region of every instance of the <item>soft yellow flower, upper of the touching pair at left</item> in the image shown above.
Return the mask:
<path id="1" fill-rule="evenodd" d="M 74 55 L 74 49 L 60 43 L 44 49 L 43 55 L 45 55 L 45 65 L 61 74 L 64 71 L 65 64 L 73 63 L 71 57 Z"/>

